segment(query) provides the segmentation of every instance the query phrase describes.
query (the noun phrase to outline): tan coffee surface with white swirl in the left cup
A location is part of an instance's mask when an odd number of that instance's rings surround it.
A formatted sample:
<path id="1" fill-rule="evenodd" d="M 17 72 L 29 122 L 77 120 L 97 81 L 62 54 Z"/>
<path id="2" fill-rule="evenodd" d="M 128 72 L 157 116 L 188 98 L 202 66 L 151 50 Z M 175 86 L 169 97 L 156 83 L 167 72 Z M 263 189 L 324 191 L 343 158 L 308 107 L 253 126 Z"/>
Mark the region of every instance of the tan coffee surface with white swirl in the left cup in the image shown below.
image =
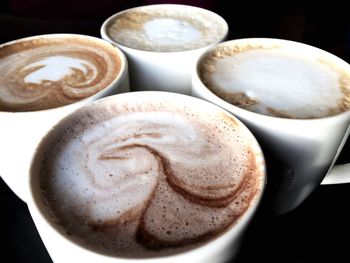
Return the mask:
<path id="1" fill-rule="evenodd" d="M 0 111 L 37 111 L 82 100 L 118 76 L 121 60 L 97 40 L 23 39 L 0 46 Z"/>

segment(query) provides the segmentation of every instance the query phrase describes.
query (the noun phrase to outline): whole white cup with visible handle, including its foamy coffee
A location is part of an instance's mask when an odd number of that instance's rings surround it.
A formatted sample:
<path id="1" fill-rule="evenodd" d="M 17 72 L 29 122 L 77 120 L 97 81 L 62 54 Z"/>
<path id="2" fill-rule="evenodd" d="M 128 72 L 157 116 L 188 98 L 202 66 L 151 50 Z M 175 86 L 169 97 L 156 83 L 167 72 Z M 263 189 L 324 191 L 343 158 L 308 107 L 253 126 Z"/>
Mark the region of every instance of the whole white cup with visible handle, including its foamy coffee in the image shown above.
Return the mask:
<path id="1" fill-rule="evenodd" d="M 227 41 L 199 59 L 192 94 L 257 137 L 275 212 L 291 211 L 323 180 L 350 182 L 349 166 L 334 166 L 350 124 L 350 66 L 342 59 L 287 40 Z"/>

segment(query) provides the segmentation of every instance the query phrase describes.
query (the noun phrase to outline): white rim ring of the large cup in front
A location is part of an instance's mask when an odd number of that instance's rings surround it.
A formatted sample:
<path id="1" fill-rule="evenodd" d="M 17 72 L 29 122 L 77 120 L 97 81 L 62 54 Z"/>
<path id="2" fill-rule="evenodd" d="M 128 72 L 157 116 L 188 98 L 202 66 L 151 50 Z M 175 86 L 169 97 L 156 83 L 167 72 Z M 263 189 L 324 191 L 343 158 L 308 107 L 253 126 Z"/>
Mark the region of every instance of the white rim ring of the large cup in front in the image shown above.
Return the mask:
<path id="1" fill-rule="evenodd" d="M 40 160 L 40 156 L 38 157 L 38 155 L 40 155 L 40 150 L 44 150 L 45 149 L 45 141 L 49 140 L 49 138 L 52 135 L 52 133 L 55 132 L 55 127 L 60 126 L 60 125 L 64 125 L 64 123 L 66 121 L 68 121 L 68 119 L 70 118 L 70 116 L 79 113 L 80 111 L 84 111 L 86 108 L 88 108 L 90 105 L 96 105 L 96 104 L 100 104 L 103 103 L 104 101 L 118 101 L 118 99 L 120 98 L 120 100 L 125 100 L 126 97 L 133 97 L 135 98 L 135 96 L 139 96 L 140 98 L 152 98 L 154 96 L 160 96 L 159 99 L 161 100 L 170 100 L 167 99 L 167 97 L 169 98 L 169 96 L 175 96 L 176 100 L 189 100 L 192 103 L 196 103 L 196 107 L 197 108 L 201 108 L 201 107 L 211 107 L 213 110 L 219 110 L 221 112 L 223 112 L 224 114 L 227 114 L 229 117 L 233 118 L 234 121 L 239 125 L 240 129 L 242 129 L 242 133 L 244 134 L 244 136 L 249 137 L 249 142 L 252 144 L 252 149 L 254 150 L 255 156 L 257 157 L 256 163 L 259 165 L 259 178 L 257 179 L 259 182 L 259 186 L 258 186 L 258 190 L 257 192 L 254 194 L 253 199 L 251 200 L 251 203 L 249 204 L 248 208 L 243 212 L 243 214 L 232 224 L 229 226 L 228 229 L 226 229 L 224 232 L 222 232 L 221 234 L 219 234 L 218 236 L 214 237 L 213 239 L 210 239 L 209 241 L 199 245 L 198 247 L 195 248 L 191 248 L 189 250 L 185 250 L 179 253 L 175 253 L 175 254 L 170 254 L 170 255 L 165 255 L 165 256 L 157 256 L 157 257 L 150 257 L 150 258 L 126 258 L 126 257 L 120 257 L 120 256 L 111 256 L 111 255 L 107 255 L 107 254 L 103 254 L 102 252 L 97 252 L 94 250 L 91 250 L 87 247 L 85 247 L 82 244 L 77 243 L 76 241 L 69 239 L 68 237 L 66 237 L 66 235 L 64 235 L 63 230 L 60 227 L 57 227 L 53 222 L 51 222 L 48 219 L 48 215 L 47 212 L 45 212 L 45 209 L 43 208 L 43 204 L 40 200 L 39 197 L 39 193 L 37 193 L 38 190 L 38 176 L 37 175 L 33 175 L 33 166 L 35 165 L 35 163 L 37 162 L 37 158 L 39 158 Z M 171 100 L 173 100 L 174 98 L 172 97 Z M 192 104 L 189 104 L 192 105 Z M 213 249 L 215 247 L 223 246 L 226 243 L 229 243 L 232 239 L 234 239 L 235 237 L 239 236 L 241 234 L 241 232 L 244 231 L 244 229 L 249 225 L 249 221 L 251 221 L 252 217 L 254 216 L 256 210 L 258 209 L 263 194 L 265 192 L 265 188 L 266 188 L 266 181 L 267 181 L 267 171 L 266 171 L 266 163 L 265 163 L 265 158 L 264 158 L 264 154 L 262 151 L 262 148 L 260 146 L 260 144 L 258 143 L 257 139 L 255 138 L 255 136 L 253 135 L 253 133 L 247 128 L 247 126 L 241 122 L 237 117 L 235 117 L 234 115 L 232 115 L 231 113 L 227 112 L 226 110 L 220 108 L 219 106 L 216 106 L 215 104 L 212 104 L 210 102 L 192 97 L 192 96 L 188 96 L 188 95 L 183 95 L 183 94 L 178 94 L 178 93 L 172 93 L 172 92 L 165 92 L 165 91 L 137 91 L 137 92 L 129 92 L 129 93 L 120 93 L 120 94 L 116 94 L 116 95 L 112 95 L 112 96 L 108 96 L 108 97 L 104 97 L 102 99 L 93 101 L 87 105 L 82 106 L 81 108 L 78 108 L 76 110 L 74 110 L 72 113 L 70 113 L 69 115 L 65 116 L 63 119 L 61 119 L 56 125 L 55 127 L 52 127 L 48 132 L 46 132 L 46 134 L 42 137 L 40 143 L 37 145 L 34 154 L 31 158 L 31 162 L 30 162 L 30 174 L 29 174 L 29 187 L 30 187 L 30 197 L 28 200 L 28 206 L 30 208 L 31 213 L 33 211 L 35 211 L 35 213 L 37 215 L 39 215 L 39 217 L 41 219 L 43 219 L 46 223 L 46 225 L 48 225 L 50 227 L 51 230 L 53 230 L 56 234 L 58 234 L 58 236 L 60 236 L 60 238 L 64 239 L 65 242 L 69 242 L 70 245 L 74 246 L 76 249 L 80 250 L 80 251 L 85 251 L 84 253 L 88 253 L 90 255 L 95 255 L 97 258 L 100 258 L 101 260 L 130 260 L 130 261 L 140 261 L 140 262 L 158 262 L 161 260 L 165 260 L 165 259 L 175 259 L 175 260 L 180 260 L 180 259 L 185 259 L 187 256 L 189 255 L 198 255 L 200 253 L 205 252 L 208 248 L 209 249 Z M 55 134 L 53 134 L 52 136 L 55 136 Z"/>

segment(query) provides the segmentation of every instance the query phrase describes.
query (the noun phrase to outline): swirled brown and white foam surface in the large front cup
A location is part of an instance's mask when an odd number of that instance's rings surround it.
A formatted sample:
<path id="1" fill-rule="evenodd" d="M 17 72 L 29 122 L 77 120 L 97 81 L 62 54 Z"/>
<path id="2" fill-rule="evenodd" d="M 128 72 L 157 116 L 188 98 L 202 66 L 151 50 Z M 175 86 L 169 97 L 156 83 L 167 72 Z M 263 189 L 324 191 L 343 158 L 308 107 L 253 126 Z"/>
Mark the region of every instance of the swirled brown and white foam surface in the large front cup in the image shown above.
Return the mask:
<path id="1" fill-rule="evenodd" d="M 249 207 L 263 175 L 230 117 L 170 101 L 107 102 L 68 120 L 38 168 L 44 203 L 71 236 L 154 257 L 206 242 Z"/>

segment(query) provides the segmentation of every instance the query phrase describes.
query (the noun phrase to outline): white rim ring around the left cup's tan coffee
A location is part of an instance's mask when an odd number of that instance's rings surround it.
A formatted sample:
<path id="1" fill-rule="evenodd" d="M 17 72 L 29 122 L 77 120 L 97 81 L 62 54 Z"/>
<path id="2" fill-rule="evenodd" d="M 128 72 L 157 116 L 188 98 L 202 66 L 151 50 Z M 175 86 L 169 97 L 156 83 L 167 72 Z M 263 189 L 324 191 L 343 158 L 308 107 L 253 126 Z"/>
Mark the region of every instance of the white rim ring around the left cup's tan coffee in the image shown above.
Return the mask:
<path id="1" fill-rule="evenodd" d="M 28 40 L 32 40 L 32 39 L 70 38 L 70 37 L 71 38 L 74 38 L 74 37 L 75 38 L 82 38 L 82 39 L 87 39 L 89 41 L 94 41 L 94 42 L 98 43 L 98 45 L 100 45 L 100 46 L 108 47 L 111 51 L 113 51 L 117 54 L 121 63 L 120 63 L 119 72 L 115 76 L 113 81 L 111 83 L 109 83 L 108 86 L 106 86 L 103 89 L 101 89 L 100 91 L 92 94 L 91 96 L 88 96 L 88 97 L 83 98 L 81 100 L 77 100 L 73 103 L 61 105 L 61 106 L 54 107 L 54 108 L 34 110 L 34 111 L 2 111 L 2 110 L 0 110 L 0 114 L 2 114 L 2 115 L 3 114 L 26 115 L 26 114 L 45 113 L 45 112 L 52 112 L 52 111 L 57 111 L 57 110 L 61 110 L 61 109 L 66 109 L 66 108 L 69 108 L 69 107 L 72 107 L 72 106 L 75 106 L 78 104 L 83 104 L 83 103 L 86 103 L 89 101 L 93 101 L 97 98 L 103 97 L 106 93 L 108 93 L 111 89 L 113 89 L 113 87 L 118 86 L 118 83 L 123 81 L 123 79 L 125 78 L 127 71 L 128 71 L 128 62 L 127 62 L 127 59 L 126 59 L 124 53 L 118 47 L 113 46 L 108 41 L 101 39 L 101 38 L 94 37 L 94 36 L 83 35 L 83 34 L 74 34 L 74 33 L 52 33 L 52 34 L 34 35 L 34 36 L 23 37 L 23 38 L 11 40 L 9 42 L 0 44 L 0 49 L 3 48 L 4 46 L 8 46 L 8 45 L 12 45 L 12 44 L 15 44 L 18 42 L 28 41 Z"/>

